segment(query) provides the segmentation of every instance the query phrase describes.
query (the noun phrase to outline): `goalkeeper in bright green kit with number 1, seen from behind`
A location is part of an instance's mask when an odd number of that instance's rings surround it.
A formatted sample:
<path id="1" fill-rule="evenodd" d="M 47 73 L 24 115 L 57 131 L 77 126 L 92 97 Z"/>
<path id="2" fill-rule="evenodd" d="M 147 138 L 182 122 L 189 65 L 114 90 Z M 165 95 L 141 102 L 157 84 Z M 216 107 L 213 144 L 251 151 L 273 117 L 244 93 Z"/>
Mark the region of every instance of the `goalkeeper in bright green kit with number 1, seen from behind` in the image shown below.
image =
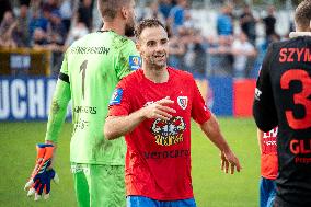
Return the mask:
<path id="1" fill-rule="evenodd" d="M 56 148 L 68 103 L 72 100 L 70 162 L 78 204 L 122 207 L 126 205 L 126 145 L 124 139 L 106 140 L 103 126 L 117 82 L 140 65 L 135 43 L 127 38 L 134 35 L 135 1 L 99 0 L 97 5 L 103 27 L 78 39 L 66 51 L 50 107 L 46 146 L 37 149 Z M 28 195 L 35 194 L 35 199 L 42 193 L 49 194 L 49 183 L 56 174 L 44 174 L 53 170 L 51 161 L 45 159 L 44 163 L 38 162 L 39 170 L 36 166 L 32 175 L 36 180 L 31 179 L 26 185 Z"/>

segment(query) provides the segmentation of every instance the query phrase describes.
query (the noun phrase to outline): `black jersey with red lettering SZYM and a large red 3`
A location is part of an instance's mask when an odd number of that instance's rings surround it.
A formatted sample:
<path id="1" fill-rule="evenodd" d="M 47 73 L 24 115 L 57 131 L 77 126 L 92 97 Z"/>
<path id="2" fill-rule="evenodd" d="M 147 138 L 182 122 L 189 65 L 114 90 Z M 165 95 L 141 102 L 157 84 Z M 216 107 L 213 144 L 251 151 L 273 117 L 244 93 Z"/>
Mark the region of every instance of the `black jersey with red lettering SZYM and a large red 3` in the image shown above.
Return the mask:
<path id="1" fill-rule="evenodd" d="M 269 46 L 256 83 L 258 128 L 278 125 L 276 206 L 311 206 L 311 33 Z"/>

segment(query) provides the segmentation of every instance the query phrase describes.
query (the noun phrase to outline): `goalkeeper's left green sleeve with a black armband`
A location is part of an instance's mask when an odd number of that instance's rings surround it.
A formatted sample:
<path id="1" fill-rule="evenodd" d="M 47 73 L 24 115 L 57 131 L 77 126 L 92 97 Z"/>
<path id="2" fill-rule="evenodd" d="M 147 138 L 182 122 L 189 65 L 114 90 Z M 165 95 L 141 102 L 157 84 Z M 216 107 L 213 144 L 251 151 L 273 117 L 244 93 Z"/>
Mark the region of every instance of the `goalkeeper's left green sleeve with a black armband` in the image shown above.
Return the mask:
<path id="1" fill-rule="evenodd" d="M 67 106 L 71 99 L 70 94 L 67 54 L 65 54 L 49 110 L 45 140 L 57 142 L 61 126 L 66 118 Z"/>

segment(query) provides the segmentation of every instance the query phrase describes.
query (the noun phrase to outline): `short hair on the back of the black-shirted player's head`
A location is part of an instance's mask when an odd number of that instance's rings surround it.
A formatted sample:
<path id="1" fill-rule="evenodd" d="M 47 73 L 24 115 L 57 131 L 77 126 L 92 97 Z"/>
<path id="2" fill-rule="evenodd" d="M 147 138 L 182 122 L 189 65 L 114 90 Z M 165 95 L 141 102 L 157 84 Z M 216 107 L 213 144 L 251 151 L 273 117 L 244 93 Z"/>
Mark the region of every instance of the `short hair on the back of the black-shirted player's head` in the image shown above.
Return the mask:
<path id="1" fill-rule="evenodd" d="M 311 0 L 302 1 L 296 9 L 295 22 L 302 30 L 310 28 L 311 21 Z"/>

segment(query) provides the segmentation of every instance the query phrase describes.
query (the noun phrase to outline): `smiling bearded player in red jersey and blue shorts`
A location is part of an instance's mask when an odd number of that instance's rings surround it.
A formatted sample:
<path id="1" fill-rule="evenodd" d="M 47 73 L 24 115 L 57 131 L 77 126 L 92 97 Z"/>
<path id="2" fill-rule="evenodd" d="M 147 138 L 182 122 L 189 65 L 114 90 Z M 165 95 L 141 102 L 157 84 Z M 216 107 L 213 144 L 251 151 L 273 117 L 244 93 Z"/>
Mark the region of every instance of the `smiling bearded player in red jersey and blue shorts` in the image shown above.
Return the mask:
<path id="1" fill-rule="evenodd" d="M 222 168 L 238 158 L 205 106 L 191 73 L 166 66 L 168 33 L 158 20 L 136 28 L 142 68 L 124 78 L 110 103 L 104 134 L 126 135 L 127 205 L 196 206 L 191 177 L 191 118 L 221 151 Z"/>

